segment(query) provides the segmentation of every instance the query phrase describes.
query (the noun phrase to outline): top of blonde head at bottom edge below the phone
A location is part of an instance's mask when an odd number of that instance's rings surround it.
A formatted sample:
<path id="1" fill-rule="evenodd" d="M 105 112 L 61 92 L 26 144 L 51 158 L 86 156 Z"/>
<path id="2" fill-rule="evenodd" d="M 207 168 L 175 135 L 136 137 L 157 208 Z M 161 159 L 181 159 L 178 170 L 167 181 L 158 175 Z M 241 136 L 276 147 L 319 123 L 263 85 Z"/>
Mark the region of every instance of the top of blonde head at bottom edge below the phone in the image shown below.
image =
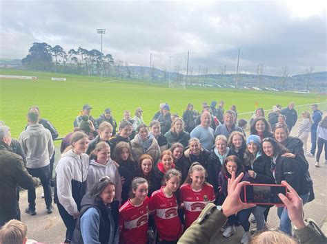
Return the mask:
<path id="1" fill-rule="evenodd" d="M 250 242 L 251 244 L 297 244 L 295 239 L 291 238 L 290 236 L 282 233 L 282 232 L 261 232 L 255 235 Z"/>

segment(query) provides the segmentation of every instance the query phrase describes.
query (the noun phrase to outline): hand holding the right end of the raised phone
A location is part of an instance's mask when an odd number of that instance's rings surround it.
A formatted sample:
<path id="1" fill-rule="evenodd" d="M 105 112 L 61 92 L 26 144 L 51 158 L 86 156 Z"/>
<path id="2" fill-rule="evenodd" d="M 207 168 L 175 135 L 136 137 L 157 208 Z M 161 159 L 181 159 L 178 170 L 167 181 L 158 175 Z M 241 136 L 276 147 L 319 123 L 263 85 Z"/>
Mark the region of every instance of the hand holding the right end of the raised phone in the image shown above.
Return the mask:
<path id="1" fill-rule="evenodd" d="M 297 192 L 290 186 L 286 181 L 281 181 L 281 185 L 287 187 L 289 192 L 286 193 L 286 196 L 282 193 L 279 193 L 278 197 L 285 204 L 288 210 L 288 217 L 293 222 L 297 229 L 302 229 L 306 227 L 306 224 L 303 220 L 303 202 L 302 199 L 297 195 Z"/>

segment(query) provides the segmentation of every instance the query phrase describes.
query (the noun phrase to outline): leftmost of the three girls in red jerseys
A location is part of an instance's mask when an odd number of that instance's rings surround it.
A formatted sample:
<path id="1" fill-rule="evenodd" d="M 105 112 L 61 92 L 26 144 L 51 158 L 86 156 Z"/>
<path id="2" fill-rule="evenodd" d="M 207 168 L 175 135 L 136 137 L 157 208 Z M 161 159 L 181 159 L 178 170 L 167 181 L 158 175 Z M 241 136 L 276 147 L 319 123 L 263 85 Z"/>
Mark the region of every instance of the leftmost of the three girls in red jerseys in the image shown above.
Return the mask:
<path id="1" fill-rule="evenodd" d="M 148 241 L 148 181 L 132 180 L 131 198 L 119 208 L 119 243 L 145 244 Z"/>

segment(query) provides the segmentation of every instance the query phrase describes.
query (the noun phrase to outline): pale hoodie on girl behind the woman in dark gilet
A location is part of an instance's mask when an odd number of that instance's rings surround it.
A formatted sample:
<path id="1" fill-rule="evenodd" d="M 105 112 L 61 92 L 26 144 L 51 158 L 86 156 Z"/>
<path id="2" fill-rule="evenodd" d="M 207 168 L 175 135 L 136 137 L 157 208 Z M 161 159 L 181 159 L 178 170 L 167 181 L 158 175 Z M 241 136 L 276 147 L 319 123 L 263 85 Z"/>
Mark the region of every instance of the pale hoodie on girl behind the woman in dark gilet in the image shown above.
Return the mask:
<path id="1" fill-rule="evenodd" d="M 95 162 L 94 159 L 91 160 L 90 167 L 88 168 L 88 178 L 86 179 L 86 192 L 90 192 L 95 182 L 104 176 L 110 177 L 113 184 L 115 184 L 115 199 L 121 201 L 121 179 L 118 168 L 111 159 L 105 165 Z"/>

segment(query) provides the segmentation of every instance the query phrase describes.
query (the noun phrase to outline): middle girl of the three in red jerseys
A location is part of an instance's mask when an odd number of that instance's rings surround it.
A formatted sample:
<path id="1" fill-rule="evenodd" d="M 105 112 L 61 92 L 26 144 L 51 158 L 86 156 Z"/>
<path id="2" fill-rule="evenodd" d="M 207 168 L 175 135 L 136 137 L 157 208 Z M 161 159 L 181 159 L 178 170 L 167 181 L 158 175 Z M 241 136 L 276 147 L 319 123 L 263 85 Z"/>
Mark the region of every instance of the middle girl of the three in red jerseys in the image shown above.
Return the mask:
<path id="1" fill-rule="evenodd" d="M 181 219 L 177 214 L 177 198 L 174 192 L 179 188 L 181 173 L 170 169 L 164 175 L 166 186 L 152 193 L 150 211 L 155 214 L 157 243 L 175 244 L 181 236 Z"/>

